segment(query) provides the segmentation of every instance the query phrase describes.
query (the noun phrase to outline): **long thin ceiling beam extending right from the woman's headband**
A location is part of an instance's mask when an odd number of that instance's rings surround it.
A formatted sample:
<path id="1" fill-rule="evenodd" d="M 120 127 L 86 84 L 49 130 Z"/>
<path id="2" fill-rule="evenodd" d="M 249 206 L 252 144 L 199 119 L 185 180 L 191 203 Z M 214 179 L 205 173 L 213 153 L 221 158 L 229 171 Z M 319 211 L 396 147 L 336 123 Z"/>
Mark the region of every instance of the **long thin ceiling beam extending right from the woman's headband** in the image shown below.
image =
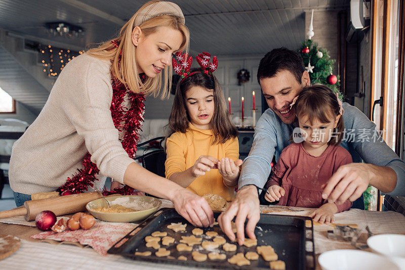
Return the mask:
<path id="1" fill-rule="evenodd" d="M 312 9 L 316 10 L 346 10 L 348 5 L 325 5 L 325 6 L 315 6 L 315 7 L 292 7 L 292 8 L 275 8 L 275 9 L 260 9 L 260 10 L 242 10 L 242 11 L 227 11 L 227 12 L 213 12 L 213 13 L 196 13 L 196 14 L 184 14 L 184 17 L 198 17 L 198 16 L 212 16 L 212 15 L 227 15 L 227 14 L 244 14 L 244 13 L 255 13 L 255 12 L 270 12 L 270 11 L 282 11 L 282 10 L 302 10 L 310 11 Z"/>

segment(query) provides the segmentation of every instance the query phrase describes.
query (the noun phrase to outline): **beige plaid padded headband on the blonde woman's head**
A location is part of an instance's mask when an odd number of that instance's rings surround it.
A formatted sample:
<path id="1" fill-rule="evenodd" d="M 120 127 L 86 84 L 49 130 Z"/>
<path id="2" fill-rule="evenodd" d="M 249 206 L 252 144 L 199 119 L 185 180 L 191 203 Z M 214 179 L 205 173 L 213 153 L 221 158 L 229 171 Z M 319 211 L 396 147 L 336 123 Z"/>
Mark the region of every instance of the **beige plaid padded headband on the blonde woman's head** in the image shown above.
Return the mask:
<path id="1" fill-rule="evenodd" d="M 140 26 L 147 20 L 162 15 L 175 16 L 178 17 L 183 24 L 186 23 L 183 12 L 181 11 L 179 6 L 172 2 L 161 1 L 152 3 L 146 6 L 142 11 L 140 11 L 135 18 L 135 26 Z"/>

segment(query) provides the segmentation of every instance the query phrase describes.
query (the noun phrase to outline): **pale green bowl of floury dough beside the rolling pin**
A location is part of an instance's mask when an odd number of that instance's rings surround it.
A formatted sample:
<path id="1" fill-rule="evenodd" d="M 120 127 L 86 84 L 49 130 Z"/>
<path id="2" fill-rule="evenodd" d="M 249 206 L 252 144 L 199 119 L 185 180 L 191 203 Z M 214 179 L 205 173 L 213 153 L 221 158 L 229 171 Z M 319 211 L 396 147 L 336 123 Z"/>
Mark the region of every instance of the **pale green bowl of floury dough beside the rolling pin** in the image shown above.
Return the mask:
<path id="1" fill-rule="evenodd" d="M 110 213 L 104 211 L 96 211 L 96 208 L 108 207 L 107 202 L 101 198 L 89 202 L 86 209 L 97 219 L 109 222 L 134 222 L 145 219 L 149 215 L 157 211 L 161 205 L 161 201 L 154 197 L 125 195 L 125 196 L 110 196 L 105 197 L 110 203 L 110 206 L 121 205 L 126 208 L 131 208 L 134 211 L 126 213 Z"/>

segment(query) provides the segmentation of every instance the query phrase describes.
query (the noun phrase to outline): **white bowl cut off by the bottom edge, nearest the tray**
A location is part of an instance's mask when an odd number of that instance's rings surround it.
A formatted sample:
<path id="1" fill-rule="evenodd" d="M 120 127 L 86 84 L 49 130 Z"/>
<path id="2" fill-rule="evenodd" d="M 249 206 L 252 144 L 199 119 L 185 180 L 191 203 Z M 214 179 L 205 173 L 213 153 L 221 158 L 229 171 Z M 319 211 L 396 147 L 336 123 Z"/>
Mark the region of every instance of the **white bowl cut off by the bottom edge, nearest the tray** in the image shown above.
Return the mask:
<path id="1" fill-rule="evenodd" d="M 386 256 L 353 249 L 323 252 L 320 254 L 318 262 L 323 270 L 399 270 L 399 267 Z"/>

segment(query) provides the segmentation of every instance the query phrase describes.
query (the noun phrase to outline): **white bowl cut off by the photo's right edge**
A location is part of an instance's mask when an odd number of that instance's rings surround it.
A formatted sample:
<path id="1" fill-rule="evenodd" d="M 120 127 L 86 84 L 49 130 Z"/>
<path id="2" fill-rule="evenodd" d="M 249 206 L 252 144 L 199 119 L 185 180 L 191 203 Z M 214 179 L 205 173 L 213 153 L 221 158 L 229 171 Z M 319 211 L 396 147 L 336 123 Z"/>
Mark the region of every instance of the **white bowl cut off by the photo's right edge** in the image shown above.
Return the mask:
<path id="1" fill-rule="evenodd" d="M 405 235 L 374 235 L 367 239 L 367 245 L 374 252 L 390 257 L 401 269 L 405 269 Z"/>

